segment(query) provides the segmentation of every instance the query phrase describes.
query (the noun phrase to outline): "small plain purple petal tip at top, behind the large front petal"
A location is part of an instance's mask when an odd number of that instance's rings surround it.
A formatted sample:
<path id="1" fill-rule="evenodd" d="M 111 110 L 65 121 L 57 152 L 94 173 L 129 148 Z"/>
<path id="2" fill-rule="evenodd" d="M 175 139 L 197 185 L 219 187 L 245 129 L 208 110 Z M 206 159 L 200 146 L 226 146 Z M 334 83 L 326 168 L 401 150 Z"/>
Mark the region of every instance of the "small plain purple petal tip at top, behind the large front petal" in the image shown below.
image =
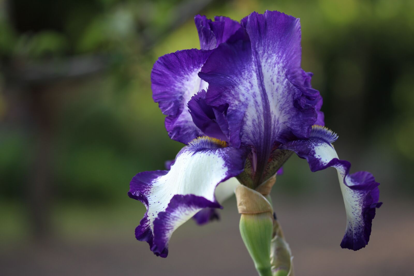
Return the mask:
<path id="1" fill-rule="evenodd" d="M 241 27 L 237 21 L 224 16 L 216 16 L 212 21 L 205 15 L 199 14 L 194 17 L 194 22 L 200 38 L 200 46 L 204 50 L 215 49 Z"/>

